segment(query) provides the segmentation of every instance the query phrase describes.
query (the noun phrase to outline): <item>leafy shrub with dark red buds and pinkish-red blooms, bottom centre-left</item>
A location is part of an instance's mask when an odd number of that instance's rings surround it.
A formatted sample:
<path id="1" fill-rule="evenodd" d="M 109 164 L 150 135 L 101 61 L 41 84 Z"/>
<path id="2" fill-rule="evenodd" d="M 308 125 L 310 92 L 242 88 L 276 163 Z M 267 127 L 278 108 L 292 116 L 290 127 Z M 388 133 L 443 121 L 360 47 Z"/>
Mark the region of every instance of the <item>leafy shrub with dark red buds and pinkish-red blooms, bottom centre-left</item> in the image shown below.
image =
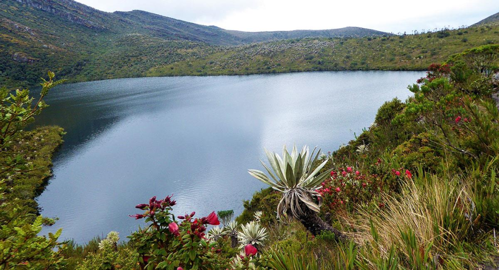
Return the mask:
<path id="1" fill-rule="evenodd" d="M 137 262 L 145 269 L 225 269 L 229 260 L 215 249 L 217 242 L 205 237 L 207 225 L 219 225 L 215 212 L 207 217 L 194 218 L 195 213 L 178 216 L 171 213 L 176 202 L 167 196 L 148 204 L 139 204 L 142 214 L 131 215 L 145 219 L 149 225 L 133 233 L 129 238 L 137 246 Z"/>

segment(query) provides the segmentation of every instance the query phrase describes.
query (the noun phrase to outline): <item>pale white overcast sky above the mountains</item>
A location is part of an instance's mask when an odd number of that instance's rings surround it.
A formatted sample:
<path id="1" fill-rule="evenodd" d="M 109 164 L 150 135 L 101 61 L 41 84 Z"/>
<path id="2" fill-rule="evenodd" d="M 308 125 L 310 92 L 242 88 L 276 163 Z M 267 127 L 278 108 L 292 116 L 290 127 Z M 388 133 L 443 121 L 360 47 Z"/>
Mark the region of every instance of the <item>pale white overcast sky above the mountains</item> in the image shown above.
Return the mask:
<path id="1" fill-rule="evenodd" d="M 77 0 L 103 11 L 141 9 L 230 30 L 359 26 L 386 32 L 471 25 L 499 0 Z"/>

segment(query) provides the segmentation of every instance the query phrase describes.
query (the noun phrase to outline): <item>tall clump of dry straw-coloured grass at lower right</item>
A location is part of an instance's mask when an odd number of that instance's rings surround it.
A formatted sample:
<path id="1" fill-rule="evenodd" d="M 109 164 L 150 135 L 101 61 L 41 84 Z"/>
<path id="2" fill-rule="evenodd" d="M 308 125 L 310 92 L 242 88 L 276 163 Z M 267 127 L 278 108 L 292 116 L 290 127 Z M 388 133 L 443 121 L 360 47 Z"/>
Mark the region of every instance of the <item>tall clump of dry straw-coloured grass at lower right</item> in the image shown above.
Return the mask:
<path id="1" fill-rule="evenodd" d="M 423 173 L 405 181 L 399 195 L 386 196 L 386 209 L 351 217 L 356 242 L 369 247 L 360 252 L 365 264 L 377 268 L 380 258 L 393 261 L 395 247 L 407 267 L 473 265 L 462 244 L 477 236 L 472 180 Z"/>

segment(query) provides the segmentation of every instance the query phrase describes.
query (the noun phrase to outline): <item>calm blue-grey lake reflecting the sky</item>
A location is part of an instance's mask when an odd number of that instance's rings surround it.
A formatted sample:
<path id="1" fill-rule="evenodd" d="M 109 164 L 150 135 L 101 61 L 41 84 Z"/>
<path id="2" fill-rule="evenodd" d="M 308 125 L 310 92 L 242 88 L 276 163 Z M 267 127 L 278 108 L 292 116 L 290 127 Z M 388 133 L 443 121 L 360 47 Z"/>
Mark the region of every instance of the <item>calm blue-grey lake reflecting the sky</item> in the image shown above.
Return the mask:
<path id="1" fill-rule="evenodd" d="M 377 109 L 424 72 L 344 71 L 133 78 L 67 84 L 49 94 L 37 125 L 65 129 L 42 214 L 42 233 L 84 243 L 143 224 L 129 214 L 152 196 L 174 194 L 176 214 L 243 210 L 265 187 L 263 147 L 318 145 L 333 151 L 374 121 Z"/>

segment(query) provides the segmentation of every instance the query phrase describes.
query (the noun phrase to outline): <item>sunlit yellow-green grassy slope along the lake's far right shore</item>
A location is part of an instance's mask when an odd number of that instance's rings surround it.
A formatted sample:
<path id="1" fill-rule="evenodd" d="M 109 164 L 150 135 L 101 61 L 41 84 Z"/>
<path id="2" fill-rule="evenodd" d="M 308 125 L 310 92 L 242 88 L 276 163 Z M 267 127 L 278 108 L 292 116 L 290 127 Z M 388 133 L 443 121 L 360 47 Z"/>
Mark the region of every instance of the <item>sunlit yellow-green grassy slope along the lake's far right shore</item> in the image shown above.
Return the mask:
<path id="1" fill-rule="evenodd" d="M 207 57 L 159 66 L 148 76 L 229 75 L 313 70 L 425 70 L 465 49 L 499 42 L 488 25 L 386 38 L 306 38 L 225 48 Z M 466 42 L 464 41 L 466 40 Z"/>

